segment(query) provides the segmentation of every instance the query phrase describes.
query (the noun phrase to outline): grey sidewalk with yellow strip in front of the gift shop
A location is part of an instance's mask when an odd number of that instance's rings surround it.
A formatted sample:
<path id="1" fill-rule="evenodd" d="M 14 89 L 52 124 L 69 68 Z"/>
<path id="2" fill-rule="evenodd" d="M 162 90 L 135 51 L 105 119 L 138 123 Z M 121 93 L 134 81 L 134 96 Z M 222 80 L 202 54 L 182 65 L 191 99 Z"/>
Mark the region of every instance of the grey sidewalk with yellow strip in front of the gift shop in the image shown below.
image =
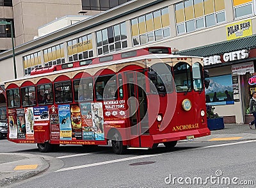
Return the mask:
<path id="1" fill-rule="evenodd" d="M 198 137 L 194 141 L 245 141 L 256 139 L 256 129 L 246 124 L 225 124 L 225 129 L 212 130 L 210 136 Z"/>

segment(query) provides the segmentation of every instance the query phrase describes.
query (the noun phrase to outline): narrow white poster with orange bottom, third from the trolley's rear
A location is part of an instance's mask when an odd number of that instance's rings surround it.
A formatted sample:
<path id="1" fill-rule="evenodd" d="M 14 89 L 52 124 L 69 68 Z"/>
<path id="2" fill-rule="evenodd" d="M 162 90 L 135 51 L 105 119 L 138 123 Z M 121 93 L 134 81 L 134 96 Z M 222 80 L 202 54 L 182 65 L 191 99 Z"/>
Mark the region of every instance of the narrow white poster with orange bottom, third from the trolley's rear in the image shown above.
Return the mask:
<path id="1" fill-rule="evenodd" d="M 26 138 L 34 139 L 34 115 L 33 107 L 25 108 Z"/>

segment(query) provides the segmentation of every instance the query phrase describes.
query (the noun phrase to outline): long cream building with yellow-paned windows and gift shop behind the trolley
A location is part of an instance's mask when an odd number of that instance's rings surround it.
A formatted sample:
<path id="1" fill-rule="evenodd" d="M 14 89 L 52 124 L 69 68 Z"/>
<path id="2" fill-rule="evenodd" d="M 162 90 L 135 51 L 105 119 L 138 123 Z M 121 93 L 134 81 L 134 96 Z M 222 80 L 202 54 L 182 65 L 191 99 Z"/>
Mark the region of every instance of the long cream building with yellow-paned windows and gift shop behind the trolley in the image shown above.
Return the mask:
<path id="1" fill-rule="evenodd" d="M 255 6 L 256 0 L 127 1 L 17 47 L 17 75 L 136 47 L 168 46 L 203 56 L 210 74 L 207 104 L 226 122 L 246 123 L 254 90 Z M 0 54 L 0 67 L 1 82 L 13 79 L 12 51 Z"/>

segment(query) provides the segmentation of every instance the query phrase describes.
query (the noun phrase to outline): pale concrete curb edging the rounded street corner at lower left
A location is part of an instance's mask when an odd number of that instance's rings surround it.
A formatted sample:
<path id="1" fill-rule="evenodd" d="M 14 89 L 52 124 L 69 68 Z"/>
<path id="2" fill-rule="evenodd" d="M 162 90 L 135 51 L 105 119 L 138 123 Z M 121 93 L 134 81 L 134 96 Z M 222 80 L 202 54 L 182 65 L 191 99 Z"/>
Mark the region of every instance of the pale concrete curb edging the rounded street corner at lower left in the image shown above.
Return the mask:
<path id="1" fill-rule="evenodd" d="M 50 167 L 50 164 L 44 159 L 44 157 L 40 157 L 40 159 L 42 161 L 42 166 L 39 169 L 24 172 L 24 173 L 19 173 L 17 175 L 13 175 L 8 178 L 4 178 L 3 180 L 0 180 L 0 187 L 8 184 L 13 184 L 14 182 L 19 182 L 19 181 L 28 179 L 32 176 L 38 175 L 39 173 L 46 171 Z"/>

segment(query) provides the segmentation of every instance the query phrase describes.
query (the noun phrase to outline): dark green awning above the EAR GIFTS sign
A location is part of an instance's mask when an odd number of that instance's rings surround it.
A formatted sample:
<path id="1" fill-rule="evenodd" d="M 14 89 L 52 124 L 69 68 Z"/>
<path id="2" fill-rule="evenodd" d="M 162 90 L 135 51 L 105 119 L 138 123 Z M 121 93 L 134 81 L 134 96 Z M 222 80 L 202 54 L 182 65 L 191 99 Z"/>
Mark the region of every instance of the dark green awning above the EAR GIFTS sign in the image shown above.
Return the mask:
<path id="1" fill-rule="evenodd" d="M 214 55 L 220 55 L 227 52 L 239 51 L 242 49 L 256 48 L 256 35 L 239 38 L 236 40 L 229 40 L 225 42 L 214 43 L 211 45 L 205 45 L 202 47 L 196 47 L 186 51 L 180 51 L 177 54 L 183 56 L 203 56 L 209 57 Z"/>

